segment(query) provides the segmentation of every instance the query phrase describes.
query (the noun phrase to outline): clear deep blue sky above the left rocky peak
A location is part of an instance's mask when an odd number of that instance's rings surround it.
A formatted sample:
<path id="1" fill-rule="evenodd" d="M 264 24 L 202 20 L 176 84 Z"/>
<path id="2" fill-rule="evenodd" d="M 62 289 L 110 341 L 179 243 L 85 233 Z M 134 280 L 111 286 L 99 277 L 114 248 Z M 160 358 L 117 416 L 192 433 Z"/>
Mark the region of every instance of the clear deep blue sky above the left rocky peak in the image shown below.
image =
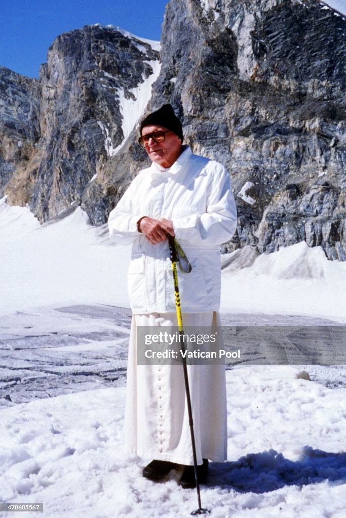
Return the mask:
<path id="1" fill-rule="evenodd" d="M 48 47 L 63 32 L 83 25 L 117 25 L 159 40 L 168 0 L 2 0 L 0 66 L 38 77 Z"/>

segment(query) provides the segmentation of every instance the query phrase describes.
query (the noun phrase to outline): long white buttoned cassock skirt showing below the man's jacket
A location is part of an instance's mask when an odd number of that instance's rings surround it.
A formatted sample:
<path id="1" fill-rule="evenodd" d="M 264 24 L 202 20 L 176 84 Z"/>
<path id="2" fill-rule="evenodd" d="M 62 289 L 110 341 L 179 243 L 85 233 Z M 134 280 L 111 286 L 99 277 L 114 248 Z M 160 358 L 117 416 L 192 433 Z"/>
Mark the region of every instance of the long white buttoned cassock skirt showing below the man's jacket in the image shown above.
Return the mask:
<path id="1" fill-rule="evenodd" d="M 220 333 L 216 311 L 186 313 L 184 326 Z M 174 313 L 135 314 L 127 372 L 125 438 L 128 453 L 177 464 L 193 464 L 182 365 L 137 365 L 137 326 L 176 326 Z M 165 329 L 166 330 L 166 329 Z M 227 458 L 224 365 L 188 365 L 197 464 Z"/>

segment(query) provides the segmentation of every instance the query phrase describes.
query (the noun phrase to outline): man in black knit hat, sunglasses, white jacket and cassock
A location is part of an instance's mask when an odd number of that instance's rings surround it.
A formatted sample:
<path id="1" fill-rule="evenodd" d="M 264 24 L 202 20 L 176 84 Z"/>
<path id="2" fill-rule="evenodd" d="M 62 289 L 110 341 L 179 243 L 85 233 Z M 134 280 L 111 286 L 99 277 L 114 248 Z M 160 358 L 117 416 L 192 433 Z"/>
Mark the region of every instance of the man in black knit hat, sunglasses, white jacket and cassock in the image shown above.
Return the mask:
<path id="1" fill-rule="evenodd" d="M 167 235 L 175 236 L 192 271 L 179 276 L 184 326 L 219 325 L 220 244 L 237 225 L 227 170 L 192 154 L 171 105 L 141 123 L 139 142 L 151 166 L 134 178 L 109 214 L 110 237 L 133 243 L 128 283 L 133 311 L 125 410 L 129 453 L 153 459 L 143 476 L 161 480 L 183 466 L 182 487 L 195 487 L 183 369 L 179 365 L 138 366 L 137 326 L 177 325 Z M 198 477 L 208 459 L 227 458 L 225 369 L 189 366 Z"/>

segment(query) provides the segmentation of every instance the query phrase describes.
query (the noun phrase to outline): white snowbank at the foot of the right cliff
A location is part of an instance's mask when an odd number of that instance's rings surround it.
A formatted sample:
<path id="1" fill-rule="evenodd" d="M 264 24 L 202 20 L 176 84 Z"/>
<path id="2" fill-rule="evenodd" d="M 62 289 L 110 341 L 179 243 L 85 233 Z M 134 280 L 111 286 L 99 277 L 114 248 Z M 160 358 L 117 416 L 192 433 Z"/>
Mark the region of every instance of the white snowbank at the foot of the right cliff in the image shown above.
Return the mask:
<path id="1" fill-rule="evenodd" d="M 314 315 L 345 323 L 345 283 L 346 263 L 330 262 L 321 247 L 309 248 L 302 241 L 260 255 L 236 274 L 225 268 L 221 306 L 224 311 Z"/>

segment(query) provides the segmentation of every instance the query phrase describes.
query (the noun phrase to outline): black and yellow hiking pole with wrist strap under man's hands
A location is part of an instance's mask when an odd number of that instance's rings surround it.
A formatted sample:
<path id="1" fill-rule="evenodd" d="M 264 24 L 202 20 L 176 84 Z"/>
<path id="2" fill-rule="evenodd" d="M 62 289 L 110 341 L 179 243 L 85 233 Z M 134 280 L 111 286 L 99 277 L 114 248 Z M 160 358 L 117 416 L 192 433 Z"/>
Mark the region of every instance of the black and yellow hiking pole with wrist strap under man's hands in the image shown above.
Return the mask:
<path id="1" fill-rule="evenodd" d="M 170 234 L 167 234 L 167 238 L 168 238 L 168 244 L 169 244 L 169 250 L 170 250 L 170 260 L 172 262 L 172 270 L 173 270 L 175 307 L 176 307 L 176 316 L 177 316 L 178 329 L 179 329 L 179 342 L 180 342 L 181 350 L 183 351 L 183 353 L 185 353 L 186 347 L 185 347 L 185 343 L 184 343 L 183 317 L 182 317 L 182 308 L 181 308 L 181 304 L 180 304 L 178 272 L 176 269 L 176 264 L 179 263 L 179 256 L 177 253 L 177 248 L 179 251 L 182 251 L 182 249 L 176 243 L 173 236 L 171 236 Z M 183 256 L 184 256 L 185 260 L 187 261 L 185 254 Z M 188 263 L 188 261 L 187 261 L 187 263 Z M 191 265 L 189 263 L 188 263 L 188 266 L 189 266 L 188 269 L 185 270 L 179 264 L 179 267 L 181 267 L 182 271 L 185 271 L 186 273 L 191 271 Z M 191 443 L 192 443 L 193 468 L 195 470 L 195 481 L 196 481 L 196 490 L 197 490 L 197 498 L 198 498 L 198 509 L 196 509 L 196 511 L 192 511 L 191 514 L 192 515 L 206 514 L 206 513 L 210 513 L 210 510 L 203 509 L 201 506 L 201 493 L 200 493 L 199 482 L 198 482 L 198 473 L 197 473 L 196 443 L 195 443 L 195 433 L 193 432 L 193 419 L 192 419 L 189 378 L 188 378 L 188 373 L 187 373 L 185 354 L 183 354 L 182 357 L 183 357 L 183 370 L 184 370 L 187 411 L 188 411 L 188 416 L 189 416 L 189 425 L 190 425 Z"/>

